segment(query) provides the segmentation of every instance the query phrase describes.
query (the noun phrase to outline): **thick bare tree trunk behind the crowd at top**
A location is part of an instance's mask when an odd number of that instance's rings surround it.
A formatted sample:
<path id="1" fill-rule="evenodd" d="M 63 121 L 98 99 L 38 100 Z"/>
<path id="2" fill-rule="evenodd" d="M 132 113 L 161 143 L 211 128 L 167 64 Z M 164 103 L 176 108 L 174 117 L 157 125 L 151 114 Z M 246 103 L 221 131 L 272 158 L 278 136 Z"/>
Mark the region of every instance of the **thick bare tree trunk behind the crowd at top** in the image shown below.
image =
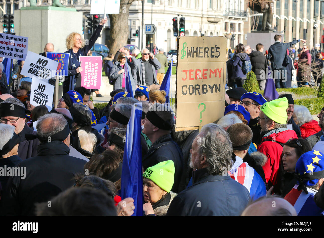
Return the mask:
<path id="1" fill-rule="evenodd" d="M 133 1 L 121 0 L 119 14 L 108 14 L 110 19 L 110 39 L 108 41 L 108 47 L 113 54 L 127 43 L 129 35 L 129 7 Z"/>

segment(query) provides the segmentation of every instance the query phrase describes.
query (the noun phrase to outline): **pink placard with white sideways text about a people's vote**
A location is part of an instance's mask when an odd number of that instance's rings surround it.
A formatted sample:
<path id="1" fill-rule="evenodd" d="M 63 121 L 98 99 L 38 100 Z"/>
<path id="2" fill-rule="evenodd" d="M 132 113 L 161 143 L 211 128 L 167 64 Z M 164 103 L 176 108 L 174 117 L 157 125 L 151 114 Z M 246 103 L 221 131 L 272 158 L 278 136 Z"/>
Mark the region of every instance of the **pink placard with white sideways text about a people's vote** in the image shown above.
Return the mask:
<path id="1" fill-rule="evenodd" d="M 102 60 L 98 56 L 80 56 L 81 86 L 87 89 L 99 89 L 102 77 Z"/>

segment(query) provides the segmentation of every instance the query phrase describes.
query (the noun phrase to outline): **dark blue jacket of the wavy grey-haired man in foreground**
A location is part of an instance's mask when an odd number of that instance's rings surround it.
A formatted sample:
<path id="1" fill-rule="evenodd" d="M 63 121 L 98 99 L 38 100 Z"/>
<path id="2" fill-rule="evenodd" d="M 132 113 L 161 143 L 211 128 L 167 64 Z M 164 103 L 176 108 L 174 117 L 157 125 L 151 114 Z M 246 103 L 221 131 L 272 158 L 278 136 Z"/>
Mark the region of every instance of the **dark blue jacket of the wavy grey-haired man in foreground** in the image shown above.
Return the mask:
<path id="1" fill-rule="evenodd" d="M 192 173 L 193 185 L 173 198 L 167 216 L 239 216 L 250 200 L 248 189 L 230 176 Z"/>

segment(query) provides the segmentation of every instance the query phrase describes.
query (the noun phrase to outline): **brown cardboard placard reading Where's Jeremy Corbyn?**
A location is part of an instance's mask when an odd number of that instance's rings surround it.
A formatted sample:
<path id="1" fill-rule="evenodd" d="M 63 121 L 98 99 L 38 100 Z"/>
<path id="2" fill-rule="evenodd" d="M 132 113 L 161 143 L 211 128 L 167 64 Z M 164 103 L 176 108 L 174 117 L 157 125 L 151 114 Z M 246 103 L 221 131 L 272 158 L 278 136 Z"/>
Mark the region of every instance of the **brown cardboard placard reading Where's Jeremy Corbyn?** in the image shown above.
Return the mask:
<path id="1" fill-rule="evenodd" d="M 176 131 L 224 116 L 226 37 L 178 37 Z"/>

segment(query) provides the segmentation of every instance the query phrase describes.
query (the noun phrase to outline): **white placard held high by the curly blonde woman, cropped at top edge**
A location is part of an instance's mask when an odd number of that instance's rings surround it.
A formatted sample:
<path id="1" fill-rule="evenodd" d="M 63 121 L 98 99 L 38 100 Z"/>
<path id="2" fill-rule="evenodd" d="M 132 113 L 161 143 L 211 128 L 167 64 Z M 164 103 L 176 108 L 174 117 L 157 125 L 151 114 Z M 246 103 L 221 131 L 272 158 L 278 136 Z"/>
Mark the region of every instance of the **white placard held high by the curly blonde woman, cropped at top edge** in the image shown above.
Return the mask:
<path id="1" fill-rule="evenodd" d="M 90 14 L 119 14 L 120 0 L 92 0 Z"/>

